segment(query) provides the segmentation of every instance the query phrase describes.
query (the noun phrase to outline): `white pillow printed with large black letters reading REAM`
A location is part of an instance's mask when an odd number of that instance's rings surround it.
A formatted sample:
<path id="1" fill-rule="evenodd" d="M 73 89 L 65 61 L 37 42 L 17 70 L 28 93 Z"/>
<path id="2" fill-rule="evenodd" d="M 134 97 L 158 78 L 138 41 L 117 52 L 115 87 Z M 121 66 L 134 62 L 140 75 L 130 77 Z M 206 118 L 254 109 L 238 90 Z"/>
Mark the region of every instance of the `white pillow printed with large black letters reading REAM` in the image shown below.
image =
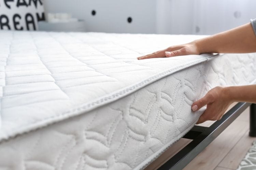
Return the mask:
<path id="1" fill-rule="evenodd" d="M 0 1 L 1 30 L 38 30 L 38 21 L 45 20 L 43 0 Z"/>

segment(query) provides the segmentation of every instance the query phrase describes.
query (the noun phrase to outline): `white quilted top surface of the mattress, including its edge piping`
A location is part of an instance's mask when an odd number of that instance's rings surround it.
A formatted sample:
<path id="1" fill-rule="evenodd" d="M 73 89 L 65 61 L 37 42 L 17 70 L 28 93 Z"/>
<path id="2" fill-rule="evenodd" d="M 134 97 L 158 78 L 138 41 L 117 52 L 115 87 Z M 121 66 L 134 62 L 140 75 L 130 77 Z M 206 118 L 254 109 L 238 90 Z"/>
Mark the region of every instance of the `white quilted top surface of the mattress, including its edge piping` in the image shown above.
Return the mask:
<path id="1" fill-rule="evenodd" d="M 195 35 L 1 31 L 0 37 L 0 141 L 86 114 L 218 56 L 137 60 L 201 37 Z"/>

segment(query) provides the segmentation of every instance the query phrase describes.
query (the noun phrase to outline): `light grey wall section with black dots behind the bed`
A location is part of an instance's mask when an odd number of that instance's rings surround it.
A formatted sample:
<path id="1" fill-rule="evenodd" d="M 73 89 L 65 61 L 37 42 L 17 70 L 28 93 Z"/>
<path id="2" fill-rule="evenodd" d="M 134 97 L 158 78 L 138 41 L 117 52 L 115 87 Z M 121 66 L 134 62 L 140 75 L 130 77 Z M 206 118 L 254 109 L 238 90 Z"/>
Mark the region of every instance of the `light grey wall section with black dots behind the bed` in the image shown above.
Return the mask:
<path id="1" fill-rule="evenodd" d="M 155 33 L 156 0 L 44 0 L 46 12 L 68 12 L 85 20 L 87 31 Z M 91 11 L 96 15 L 92 16 Z M 128 23 L 127 18 L 132 22 Z"/>

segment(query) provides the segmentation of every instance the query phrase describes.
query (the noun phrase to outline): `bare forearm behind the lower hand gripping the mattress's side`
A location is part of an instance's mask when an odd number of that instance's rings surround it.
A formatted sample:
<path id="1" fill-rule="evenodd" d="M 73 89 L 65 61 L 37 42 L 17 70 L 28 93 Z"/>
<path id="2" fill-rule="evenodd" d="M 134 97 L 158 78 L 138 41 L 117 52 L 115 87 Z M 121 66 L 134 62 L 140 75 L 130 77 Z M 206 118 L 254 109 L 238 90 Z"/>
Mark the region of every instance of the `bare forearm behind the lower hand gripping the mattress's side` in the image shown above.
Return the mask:
<path id="1" fill-rule="evenodd" d="M 256 84 L 225 87 L 226 94 L 233 102 L 256 103 Z"/>

